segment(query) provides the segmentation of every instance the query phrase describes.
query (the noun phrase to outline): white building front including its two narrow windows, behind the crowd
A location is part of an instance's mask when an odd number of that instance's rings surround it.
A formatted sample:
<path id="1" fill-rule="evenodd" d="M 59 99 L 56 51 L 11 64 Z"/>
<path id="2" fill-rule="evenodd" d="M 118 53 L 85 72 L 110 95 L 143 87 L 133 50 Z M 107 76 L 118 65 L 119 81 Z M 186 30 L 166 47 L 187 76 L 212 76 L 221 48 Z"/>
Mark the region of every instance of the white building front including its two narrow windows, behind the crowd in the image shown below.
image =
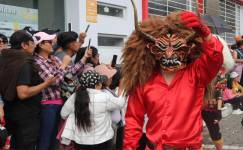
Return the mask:
<path id="1" fill-rule="evenodd" d="M 93 1 L 93 0 L 91 0 Z M 121 50 L 134 29 L 133 7 L 130 0 L 98 0 L 96 22 L 87 21 L 90 0 L 65 0 L 66 22 L 72 29 L 84 32 L 90 28 L 84 46 L 91 39 L 91 45 L 98 47 L 101 62 L 110 63 L 113 55 L 121 58 Z M 139 19 L 142 19 L 141 0 L 135 1 Z"/>

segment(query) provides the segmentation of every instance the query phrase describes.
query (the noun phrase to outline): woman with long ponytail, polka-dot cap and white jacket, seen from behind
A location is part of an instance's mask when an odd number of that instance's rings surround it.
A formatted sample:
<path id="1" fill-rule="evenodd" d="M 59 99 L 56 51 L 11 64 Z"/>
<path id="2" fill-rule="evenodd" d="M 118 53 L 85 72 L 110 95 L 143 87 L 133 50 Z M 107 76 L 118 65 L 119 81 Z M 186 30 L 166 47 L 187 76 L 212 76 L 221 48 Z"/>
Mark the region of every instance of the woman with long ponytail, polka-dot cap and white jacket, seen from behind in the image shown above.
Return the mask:
<path id="1" fill-rule="evenodd" d="M 121 109 L 125 100 L 122 96 L 114 97 L 102 90 L 106 79 L 95 71 L 82 74 L 81 88 L 61 110 L 62 118 L 67 119 L 61 135 L 62 144 L 69 145 L 73 141 L 75 150 L 112 149 L 114 131 L 110 112 Z"/>

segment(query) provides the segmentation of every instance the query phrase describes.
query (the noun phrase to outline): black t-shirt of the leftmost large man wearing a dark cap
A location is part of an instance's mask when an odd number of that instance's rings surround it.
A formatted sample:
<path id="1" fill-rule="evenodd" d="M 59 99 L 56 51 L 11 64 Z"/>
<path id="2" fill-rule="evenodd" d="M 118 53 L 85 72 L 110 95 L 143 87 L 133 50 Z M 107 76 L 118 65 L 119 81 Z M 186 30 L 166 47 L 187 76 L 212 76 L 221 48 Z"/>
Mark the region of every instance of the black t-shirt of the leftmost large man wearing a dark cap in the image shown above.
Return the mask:
<path id="1" fill-rule="evenodd" d="M 16 85 L 36 86 L 40 83 L 41 78 L 38 72 L 34 71 L 33 66 L 29 63 L 24 64 L 19 72 Z M 41 99 L 41 92 L 25 100 L 20 100 L 16 94 L 13 101 L 5 102 L 4 109 L 6 111 L 6 118 L 10 117 L 9 119 L 25 120 L 32 117 L 40 117 Z"/>

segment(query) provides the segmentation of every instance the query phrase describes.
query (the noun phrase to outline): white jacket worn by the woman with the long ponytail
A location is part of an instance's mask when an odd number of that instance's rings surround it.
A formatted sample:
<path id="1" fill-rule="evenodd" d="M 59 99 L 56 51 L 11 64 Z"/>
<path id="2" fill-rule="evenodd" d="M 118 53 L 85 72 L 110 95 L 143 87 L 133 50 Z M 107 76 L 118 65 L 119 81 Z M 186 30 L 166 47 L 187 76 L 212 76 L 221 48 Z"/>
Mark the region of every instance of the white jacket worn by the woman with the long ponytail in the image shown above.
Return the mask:
<path id="1" fill-rule="evenodd" d="M 125 99 L 122 96 L 114 97 L 102 90 L 87 90 L 90 97 L 89 109 L 92 122 L 90 131 L 79 130 L 75 124 L 74 103 L 76 94 L 73 94 L 61 110 L 62 118 L 67 119 L 61 137 L 62 139 L 74 141 L 77 144 L 100 144 L 113 138 L 114 131 L 111 127 L 110 111 L 121 109 L 125 104 Z"/>

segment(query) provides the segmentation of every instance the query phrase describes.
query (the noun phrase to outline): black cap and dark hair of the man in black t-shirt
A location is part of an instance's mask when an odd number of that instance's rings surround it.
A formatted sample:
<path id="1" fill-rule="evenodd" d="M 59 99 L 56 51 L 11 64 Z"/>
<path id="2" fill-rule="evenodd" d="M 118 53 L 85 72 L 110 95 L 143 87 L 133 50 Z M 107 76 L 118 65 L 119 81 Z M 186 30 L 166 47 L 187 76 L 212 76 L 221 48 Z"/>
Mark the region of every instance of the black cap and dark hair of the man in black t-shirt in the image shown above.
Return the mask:
<path id="1" fill-rule="evenodd" d="M 19 30 L 14 32 L 10 37 L 10 44 L 12 49 L 22 49 L 21 44 L 27 43 L 29 41 L 34 42 L 31 34 L 27 33 L 24 30 Z"/>

